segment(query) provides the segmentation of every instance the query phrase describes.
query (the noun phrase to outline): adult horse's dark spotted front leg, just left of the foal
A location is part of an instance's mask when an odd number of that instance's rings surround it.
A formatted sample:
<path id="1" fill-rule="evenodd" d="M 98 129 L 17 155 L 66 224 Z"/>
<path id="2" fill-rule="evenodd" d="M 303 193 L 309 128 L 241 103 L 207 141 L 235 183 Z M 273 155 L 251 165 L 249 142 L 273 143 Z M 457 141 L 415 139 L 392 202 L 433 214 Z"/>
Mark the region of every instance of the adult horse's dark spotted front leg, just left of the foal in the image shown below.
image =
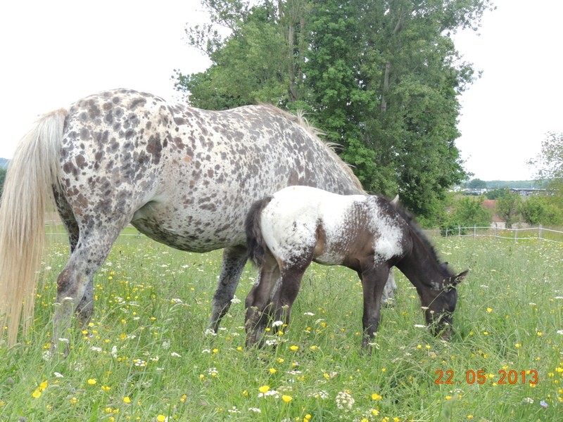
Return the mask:
<path id="1" fill-rule="evenodd" d="M 239 285 L 242 270 L 246 264 L 246 247 L 233 246 L 223 251 L 223 263 L 217 290 L 213 295 L 213 305 L 209 319 L 209 328 L 217 332 L 222 317 L 227 314 L 234 298 L 236 286 Z"/>

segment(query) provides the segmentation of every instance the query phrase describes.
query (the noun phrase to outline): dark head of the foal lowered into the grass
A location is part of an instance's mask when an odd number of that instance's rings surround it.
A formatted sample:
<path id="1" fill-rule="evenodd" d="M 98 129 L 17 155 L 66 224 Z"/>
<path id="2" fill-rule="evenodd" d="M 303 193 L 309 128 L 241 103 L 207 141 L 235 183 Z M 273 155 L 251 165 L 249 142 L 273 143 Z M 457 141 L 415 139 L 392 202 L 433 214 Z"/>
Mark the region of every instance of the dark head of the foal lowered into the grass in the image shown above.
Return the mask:
<path id="1" fill-rule="evenodd" d="M 430 297 L 425 295 L 429 299 L 427 304 L 423 303 L 426 324 L 430 327 L 432 334 L 440 335 L 442 340 L 450 340 L 452 335 L 453 312 L 457 304 L 455 286 L 465 279 L 468 272 L 464 271 L 446 279 L 442 288 L 433 289 Z"/>

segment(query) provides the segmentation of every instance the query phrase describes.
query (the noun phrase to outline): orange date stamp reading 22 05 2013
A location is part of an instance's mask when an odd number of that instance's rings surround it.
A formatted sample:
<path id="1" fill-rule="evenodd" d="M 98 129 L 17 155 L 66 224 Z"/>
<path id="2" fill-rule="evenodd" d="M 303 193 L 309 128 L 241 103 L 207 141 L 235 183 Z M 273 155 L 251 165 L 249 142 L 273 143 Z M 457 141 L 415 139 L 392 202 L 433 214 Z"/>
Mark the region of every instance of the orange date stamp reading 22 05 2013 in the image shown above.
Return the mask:
<path id="1" fill-rule="evenodd" d="M 538 383 L 538 371 L 535 369 L 529 369 L 526 371 L 515 371 L 514 369 L 510 369 L 507 371 L 505 369 L 500 369 L 496 374 L 494 373 L 487 373 L 484 369 L 479 369 L 474 371 L 469 369 L 465 371 L 465 376 L 460 379 L 460 376 L 457 376 L 455 371 L 452 369 L 447 369 L 442 371 L 438 369 L 434 372 L 436 378 L 434 379 L 435 384 L 445 384 L 445 385 L 454 385 L 454 384 L 484 384 L 487 381 L 493 381 L 499 385 L 514 385 L 514 384 L 531 384 L 535 385 Z"/>

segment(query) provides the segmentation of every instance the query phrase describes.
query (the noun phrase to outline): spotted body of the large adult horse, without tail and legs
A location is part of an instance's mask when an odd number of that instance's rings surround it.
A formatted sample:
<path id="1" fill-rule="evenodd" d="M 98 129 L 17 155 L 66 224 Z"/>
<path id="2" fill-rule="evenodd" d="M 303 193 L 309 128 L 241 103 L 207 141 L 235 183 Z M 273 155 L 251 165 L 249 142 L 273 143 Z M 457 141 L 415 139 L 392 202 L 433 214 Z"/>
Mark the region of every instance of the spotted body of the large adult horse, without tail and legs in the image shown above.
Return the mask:
<path id="1" fill-rule="evenodd" d="M 198 252 L 243 244 L 251 204 L 285 186 L 361 191 L 334 153 L 276 108 L 200 110 L 122 89 L 70 108 L 61 167 L 79 225 L 126 215 L 147 236 Z"/>

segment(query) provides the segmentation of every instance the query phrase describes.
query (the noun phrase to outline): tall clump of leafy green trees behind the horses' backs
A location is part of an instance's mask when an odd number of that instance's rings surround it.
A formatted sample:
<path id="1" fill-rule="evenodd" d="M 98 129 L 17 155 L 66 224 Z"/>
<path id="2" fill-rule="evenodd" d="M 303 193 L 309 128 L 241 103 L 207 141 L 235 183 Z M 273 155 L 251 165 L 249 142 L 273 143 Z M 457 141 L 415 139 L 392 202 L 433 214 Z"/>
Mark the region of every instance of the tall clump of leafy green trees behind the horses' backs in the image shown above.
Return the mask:
<path id="1" fill-rule="evenodd" d="M 257 101 L 310 112 L 369 191 L 436 219 L 464 179 L 459 94 L 474 80 L 451 34 L 476 28 L 490 0 L 203 0 L 190 42 L 213 65 L 177 75 L 204 108 Z M 221 37 L 217 25 L 227 27 Z"/>

